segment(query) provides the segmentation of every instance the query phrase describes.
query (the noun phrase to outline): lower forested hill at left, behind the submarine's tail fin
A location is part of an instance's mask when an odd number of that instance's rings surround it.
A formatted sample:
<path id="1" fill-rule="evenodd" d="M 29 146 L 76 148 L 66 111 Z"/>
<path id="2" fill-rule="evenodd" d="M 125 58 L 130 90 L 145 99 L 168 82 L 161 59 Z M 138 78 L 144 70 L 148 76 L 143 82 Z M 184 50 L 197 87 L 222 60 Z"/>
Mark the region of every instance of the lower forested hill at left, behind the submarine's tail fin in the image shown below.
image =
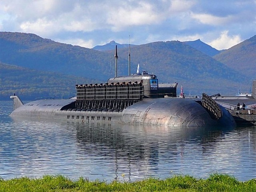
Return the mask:
<path id="1" fill-rule="evenodd" d="M 22 99 L 70 98 L 76 96 L 76 84 L 91 82 L 86 78 L 44 72 L 0 62 L 0 100 L 16 93 Z M 95 80 L 94 80 L 95 81 Z"/>

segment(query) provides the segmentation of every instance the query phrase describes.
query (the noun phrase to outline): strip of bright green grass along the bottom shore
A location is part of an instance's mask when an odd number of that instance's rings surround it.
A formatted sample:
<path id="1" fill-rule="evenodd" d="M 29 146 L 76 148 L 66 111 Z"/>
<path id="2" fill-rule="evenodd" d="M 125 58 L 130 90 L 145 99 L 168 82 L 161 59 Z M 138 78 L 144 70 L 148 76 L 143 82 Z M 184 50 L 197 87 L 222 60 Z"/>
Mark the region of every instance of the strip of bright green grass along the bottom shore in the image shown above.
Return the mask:
<path id="1" fill-rule="evenodd" d="M 212 174 L 207 179 L 173 176 L 165 180 L 148 178 L 137 182 L 90 182 L 84 178 L 72 181 L 64 176 L 44 176 L 40 179 L 0 179 L 0 192 L 82 192 L 82 191 L 175 191 L 175 192 L 242 192 L 256 191 L 256 179 L 240 182 L 226 174 Z"/>

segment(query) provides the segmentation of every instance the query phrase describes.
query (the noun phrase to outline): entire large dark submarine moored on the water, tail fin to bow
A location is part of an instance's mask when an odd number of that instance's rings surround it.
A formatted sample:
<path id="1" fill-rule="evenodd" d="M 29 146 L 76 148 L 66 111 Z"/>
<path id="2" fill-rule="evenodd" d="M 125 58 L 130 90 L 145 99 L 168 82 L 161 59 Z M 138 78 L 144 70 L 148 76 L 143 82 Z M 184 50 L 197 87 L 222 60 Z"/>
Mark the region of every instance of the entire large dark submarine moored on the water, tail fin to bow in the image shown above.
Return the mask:
<path id="1" fill-rule="evenodd" d="M 117 68 L 117 48 L 115 52 Z M 130 68 L 130 67 L 129 67 Z M 76 85 L 76 97 L 26 104 L 12 95 L 14 119 L 65 120 L 164 126 L 235 126 L 234 118 L 207 94 L 178 98 L 178 83 L 158 83 L 148 72 L 116 76 L 101 84 Z"/>

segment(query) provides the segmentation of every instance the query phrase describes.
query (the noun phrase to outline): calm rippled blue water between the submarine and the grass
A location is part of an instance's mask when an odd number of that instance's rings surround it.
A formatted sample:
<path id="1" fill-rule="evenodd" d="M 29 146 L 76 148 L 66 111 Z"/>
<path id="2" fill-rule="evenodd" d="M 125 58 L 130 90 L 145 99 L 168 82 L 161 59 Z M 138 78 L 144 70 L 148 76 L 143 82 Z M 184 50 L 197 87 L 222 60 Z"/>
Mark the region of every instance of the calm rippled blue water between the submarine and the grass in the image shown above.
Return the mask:
<path id="1" fill-rule="evenodd" d="M 188 174 L 256 178 L 256 127 L 184 128 L 15 121 L 0 101 L 0 177 L 61 174 L 111 182 Z"/>

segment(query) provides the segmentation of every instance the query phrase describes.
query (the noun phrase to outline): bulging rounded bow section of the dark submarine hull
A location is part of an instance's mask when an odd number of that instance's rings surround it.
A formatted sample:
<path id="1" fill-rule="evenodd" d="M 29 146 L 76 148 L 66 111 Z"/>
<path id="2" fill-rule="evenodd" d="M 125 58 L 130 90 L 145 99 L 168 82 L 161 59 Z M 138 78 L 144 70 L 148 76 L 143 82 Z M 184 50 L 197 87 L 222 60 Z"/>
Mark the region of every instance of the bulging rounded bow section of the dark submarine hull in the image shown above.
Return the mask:
<path id="1" fill-rule="evenodd" d="M 123 111 L 122 121 L 166 126 L 234 126 L 234 119 L 222 109 L 223 116 L 213 119 L 193 98 L 145 99 Z"/>

